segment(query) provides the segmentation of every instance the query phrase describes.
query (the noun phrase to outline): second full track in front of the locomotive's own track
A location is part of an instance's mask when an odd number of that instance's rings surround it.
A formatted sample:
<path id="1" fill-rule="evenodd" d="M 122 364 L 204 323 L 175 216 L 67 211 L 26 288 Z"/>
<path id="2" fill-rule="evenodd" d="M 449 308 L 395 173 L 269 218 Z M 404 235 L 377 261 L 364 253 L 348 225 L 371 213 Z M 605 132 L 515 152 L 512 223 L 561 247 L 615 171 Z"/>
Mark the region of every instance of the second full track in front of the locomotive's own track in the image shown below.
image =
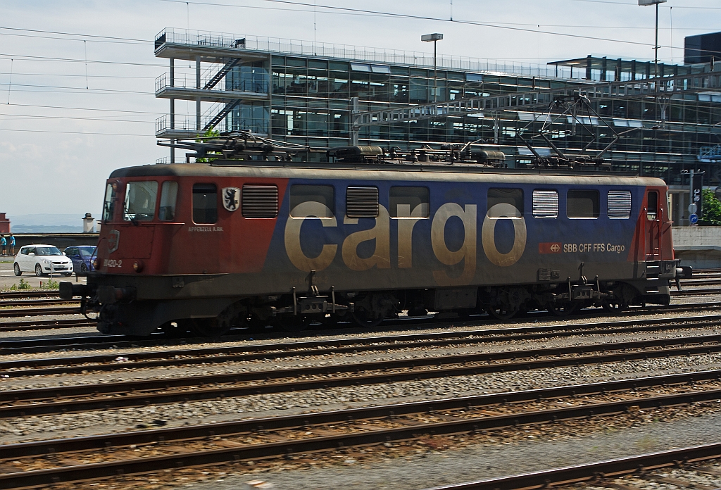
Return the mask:
<path id="1" fill-rule="evenodd" d="M 97 383 L 92 385 L 29 388 L 0 392 L 0 418 L 56 414 L 61 412 L 92 411 L 148 404 L 187 403 L 222 397 L 247 396 L 260 393 L 287 393 L 351 386 L 357 384 L 392 383 L 402 380 L 447 378 L 481 373 L 503 373 L 509 370 L 534 370 L 568 365 L 588 365 L 601 362 L 624 362 L 671 356 L 703 355 L 721 352 L 721 344 L 694 345 L 675 349 L 635 350 L 604 355 L 583 355 L 587 352 L 605 352 L 609 349 L 632 349 L 664 347 L 699 342 L 721 342 L 721 335 L 688 337 L 685 339 L 654 339 L 642 342 L 619 342 L 552 349 L 525 349 L 510 352 L 492 352 L 472 355 L 423 357 L 390 361 L 361 362 L 346 365 L 324 365 L 231 373 L 224 375 L 200 375 L 167 379 L 133 380 L 120 383 Z M 579 355 L 582 354 L 582 355 Z M 562 356 L 537 360 L 538 356 Z M 531 359 L 521 360 L 516 359 Z M 500 362 L 511 360 L 511 362 Z M 496 363 L 492 363 L 496 361 Z M 485 364 L 461 365 L 471 362 Z M 447 366 L 447 367 L 444 367 Z M 422 367 L 422 368 L 419 368 Z M 429 369 L 428 367 L 433 367 Z M 389 372 L 390 370 L 390 372 Z M 377 373 L 374 371 L 384 371 Z M 368 373 L 359 375 L 358 373 Z M 338 376 L 341 375 L 342 376 Z M 314 379 L 307 379 L 313 376 Z M 321 377 L 322 376 L 322 377 Z M 271 380 L 281 380 L 275 383 Z M 242 386 L 198 388 L 222 383 L 246 383 Z M 260 384 L 262 383 L 262 384 Z M 171 388 L 191 388 L 168 391 Z M 160 390 L 160 391 L 159 391 Z M 156 391 L 154 393 L 139 393 Z M 128 394 L 129 393 L 129 394 Z M 123 396 L 117 396 L 123 394 Z M 86 397 L 62 400 L 68 397 Z M 93 397 L 93 398 L 87 398 Z"/>

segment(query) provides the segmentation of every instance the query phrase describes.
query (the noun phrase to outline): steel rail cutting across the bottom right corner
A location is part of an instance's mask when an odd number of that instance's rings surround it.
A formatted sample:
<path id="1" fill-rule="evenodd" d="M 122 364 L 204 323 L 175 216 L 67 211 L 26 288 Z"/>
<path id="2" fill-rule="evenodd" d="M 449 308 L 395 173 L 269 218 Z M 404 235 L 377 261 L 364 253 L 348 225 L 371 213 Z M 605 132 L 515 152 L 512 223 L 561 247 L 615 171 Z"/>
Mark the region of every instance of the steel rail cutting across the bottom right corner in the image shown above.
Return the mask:
<path id="1" fill-rule="evenodd" d="M 590 480 L 598 480 L 594 482 L 594 486 L 606 486 L 601 481 L 603 478 L 618 478 L 642 471 L 678 466 L 681 462 L 701 463 L 718 458 L 721 458 L 721 442 L 463 484 L 434 486 L 426 490 L 535 490 Z"/>

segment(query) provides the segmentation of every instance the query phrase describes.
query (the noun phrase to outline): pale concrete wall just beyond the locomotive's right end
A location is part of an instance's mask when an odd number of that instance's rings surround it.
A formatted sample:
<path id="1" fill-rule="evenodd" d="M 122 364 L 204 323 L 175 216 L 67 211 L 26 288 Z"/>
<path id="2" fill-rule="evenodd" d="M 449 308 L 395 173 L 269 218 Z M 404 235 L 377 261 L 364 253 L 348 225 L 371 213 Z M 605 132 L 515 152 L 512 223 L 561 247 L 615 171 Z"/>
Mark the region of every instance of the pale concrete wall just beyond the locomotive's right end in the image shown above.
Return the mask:
<path id="1" fill-rule="evenodd" d="M 681 265 L 694 269 L 721 267 L 721 226 L 674 226 L 671 234 Z"/>

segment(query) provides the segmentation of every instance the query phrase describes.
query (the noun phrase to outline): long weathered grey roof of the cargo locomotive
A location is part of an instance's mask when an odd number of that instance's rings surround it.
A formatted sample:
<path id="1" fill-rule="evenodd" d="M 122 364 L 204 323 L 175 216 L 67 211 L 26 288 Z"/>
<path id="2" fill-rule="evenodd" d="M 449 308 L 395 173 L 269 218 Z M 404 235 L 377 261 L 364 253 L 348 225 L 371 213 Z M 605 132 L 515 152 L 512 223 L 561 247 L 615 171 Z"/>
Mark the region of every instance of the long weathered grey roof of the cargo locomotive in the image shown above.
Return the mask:
<path id="1" fill-rule="evenodd" d="M 663 179 L 620 172 L 560 169 L 495 169 L 468 165 L 373 165 L 319 164 L 276 161 L 222 161 L 212 164 L 129 166 L 117 169 L 114 177 L 265 177 L 293 179 L 410 180 L 456 182 L 545 182 L 554 184 L 632 184 L 663 186 Z"/>

